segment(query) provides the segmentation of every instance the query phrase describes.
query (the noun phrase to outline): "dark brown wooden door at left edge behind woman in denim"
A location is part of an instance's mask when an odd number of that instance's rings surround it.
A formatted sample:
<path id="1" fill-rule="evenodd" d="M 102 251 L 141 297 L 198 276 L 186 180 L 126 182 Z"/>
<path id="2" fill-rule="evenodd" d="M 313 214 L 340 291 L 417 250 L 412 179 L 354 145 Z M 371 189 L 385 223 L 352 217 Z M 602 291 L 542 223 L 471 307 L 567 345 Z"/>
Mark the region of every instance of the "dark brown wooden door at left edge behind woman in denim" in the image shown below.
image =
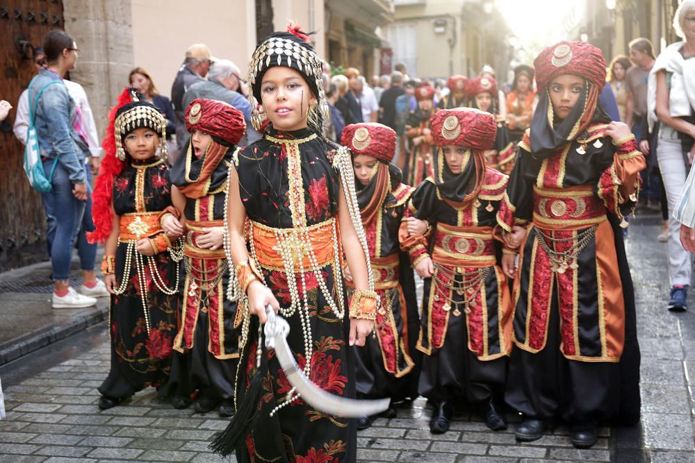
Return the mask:
<path id="1" fill-rule="evenodd" d="M 31 47 L 54 28 L 63 28 L 62 0 L 0 0 L 0 99 L 16 108 L 36 72 Z M 15 109 L 0 125 L 0 271 L 47 258 L 46 217 L 24 176 L 14 122 Z"/>

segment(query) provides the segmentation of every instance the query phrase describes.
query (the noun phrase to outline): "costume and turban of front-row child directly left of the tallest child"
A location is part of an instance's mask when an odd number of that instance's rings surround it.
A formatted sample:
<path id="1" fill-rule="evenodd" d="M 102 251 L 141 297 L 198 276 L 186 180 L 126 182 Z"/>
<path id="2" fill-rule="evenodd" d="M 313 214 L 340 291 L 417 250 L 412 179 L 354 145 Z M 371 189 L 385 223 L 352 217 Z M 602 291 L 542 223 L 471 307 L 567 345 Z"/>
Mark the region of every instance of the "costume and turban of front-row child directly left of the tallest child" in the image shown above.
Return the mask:
<path id="1" fill-rule="evenodd" d="M 432 278 L 425 279 L 418 349 L 426 354 L 420 394 L 436 403 L 462 392 L 473 402 L 501 401 L 506 380 L 512 305 L 493 227 L 507 176 L 486 167 L 483 154 L 496 130 L 494 117 L 480 110 L 434 115 L 435 176 L 418 186 L 407 212 L 434 229 L 425 236 L 409 235 L 405 223 L 400 229 L 401 247 L 413 266 L 430 256 L 434 264 Z M 459 174 L 445 163 L 446 145 L 470 151 Z"/>

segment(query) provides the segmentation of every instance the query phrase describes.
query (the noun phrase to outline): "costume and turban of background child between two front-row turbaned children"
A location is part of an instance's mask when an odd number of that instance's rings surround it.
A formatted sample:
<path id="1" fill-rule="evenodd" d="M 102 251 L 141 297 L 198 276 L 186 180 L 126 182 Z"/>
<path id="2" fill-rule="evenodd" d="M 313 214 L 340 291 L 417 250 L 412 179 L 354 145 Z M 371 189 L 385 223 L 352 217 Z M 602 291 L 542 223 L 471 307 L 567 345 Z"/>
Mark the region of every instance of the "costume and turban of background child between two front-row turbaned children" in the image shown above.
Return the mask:
<path id="1" fill-rule="evenodd" d="M 434 88 L 423 85 L 415 89 L 418 106 L 410 113 L 405 127 L 409 139 L 407 160 L 403 168 L 403 178 L 407 185 L 416 186 L 425 178 L 432 176 L 433 144 L 430 134 L 430 117 L 434 115 Z M 421 101 L 430 101 L 430 109 L 423 110 Z"/>

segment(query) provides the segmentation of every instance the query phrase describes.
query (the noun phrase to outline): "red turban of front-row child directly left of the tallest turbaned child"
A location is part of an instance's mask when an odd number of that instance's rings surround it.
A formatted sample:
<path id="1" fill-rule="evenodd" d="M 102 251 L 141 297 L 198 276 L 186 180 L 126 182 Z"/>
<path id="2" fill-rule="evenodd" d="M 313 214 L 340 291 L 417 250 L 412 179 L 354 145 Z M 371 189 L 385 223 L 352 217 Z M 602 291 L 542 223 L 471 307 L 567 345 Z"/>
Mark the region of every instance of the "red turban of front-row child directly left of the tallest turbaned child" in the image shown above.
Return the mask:
<path id="1" fill-rule="evenodd" d="M 491 149 L 497 136 L 495 117 L 474 108 L 443 109 L 430 121 L 436 146 L 452 144 L 466 148 Z"/>

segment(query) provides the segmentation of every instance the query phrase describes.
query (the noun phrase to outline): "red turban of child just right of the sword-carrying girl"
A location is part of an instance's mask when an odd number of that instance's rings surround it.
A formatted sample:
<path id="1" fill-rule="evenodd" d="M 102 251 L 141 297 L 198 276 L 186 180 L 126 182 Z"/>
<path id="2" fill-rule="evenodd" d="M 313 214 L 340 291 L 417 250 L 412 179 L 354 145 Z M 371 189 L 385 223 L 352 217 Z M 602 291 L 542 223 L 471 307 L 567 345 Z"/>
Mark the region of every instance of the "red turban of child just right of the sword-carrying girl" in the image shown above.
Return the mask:
<path id="1" fill-rule="evenodd" d="M 388 164 L 395 155 L 395 131 L 376 122 L 350 124 L 343 129 L 341 144 L 352 155 L 366 154 Z"/>

